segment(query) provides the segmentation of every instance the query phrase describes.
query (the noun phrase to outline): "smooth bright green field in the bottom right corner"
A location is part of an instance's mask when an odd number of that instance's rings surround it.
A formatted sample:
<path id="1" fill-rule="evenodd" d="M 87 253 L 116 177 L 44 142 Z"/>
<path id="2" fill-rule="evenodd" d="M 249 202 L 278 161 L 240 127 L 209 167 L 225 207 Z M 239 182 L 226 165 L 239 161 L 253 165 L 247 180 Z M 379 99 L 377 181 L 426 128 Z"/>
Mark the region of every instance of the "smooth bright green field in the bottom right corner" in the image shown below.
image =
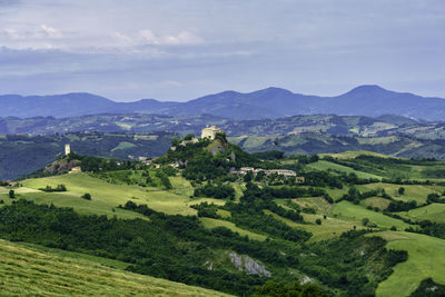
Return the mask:
<path id="1" fill-rule="evenodd" d="M 372 234 L 388 241 L 387 248 L 408 253 L 408 260 L 396 265 L 394 273 L 379 284 L 376 295 L 409 296 L 425 278 L 445 284 L 445 240 L 412 232 Z"/>

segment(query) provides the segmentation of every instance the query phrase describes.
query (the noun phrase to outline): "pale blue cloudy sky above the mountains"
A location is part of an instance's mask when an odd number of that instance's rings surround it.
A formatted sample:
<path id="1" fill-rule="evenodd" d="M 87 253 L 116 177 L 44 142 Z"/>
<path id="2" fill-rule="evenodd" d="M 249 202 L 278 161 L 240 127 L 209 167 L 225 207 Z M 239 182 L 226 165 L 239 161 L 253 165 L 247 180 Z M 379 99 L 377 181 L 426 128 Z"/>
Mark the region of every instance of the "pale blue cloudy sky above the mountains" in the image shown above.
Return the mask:
<path id="1" fill-rule="evenodd" d="M 0 95 L 445 98 L 444 0 L 0 0 Z"/>

